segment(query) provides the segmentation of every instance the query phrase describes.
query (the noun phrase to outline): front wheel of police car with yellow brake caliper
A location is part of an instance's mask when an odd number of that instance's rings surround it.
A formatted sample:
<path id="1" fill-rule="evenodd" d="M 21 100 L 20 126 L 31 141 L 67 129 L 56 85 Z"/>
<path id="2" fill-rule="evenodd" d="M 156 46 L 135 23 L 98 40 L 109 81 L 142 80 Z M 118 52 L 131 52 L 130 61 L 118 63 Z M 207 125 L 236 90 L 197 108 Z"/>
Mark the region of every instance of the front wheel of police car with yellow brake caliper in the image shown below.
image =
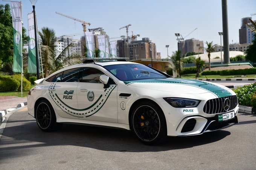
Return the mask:
<path id="1" fill-rule="evenodd" d="M 133 108 L 131 129 L 145 144 L 160 144 L 166 141 L 166 119 L 162 109 L 155 103 L 143 101 Z"/>

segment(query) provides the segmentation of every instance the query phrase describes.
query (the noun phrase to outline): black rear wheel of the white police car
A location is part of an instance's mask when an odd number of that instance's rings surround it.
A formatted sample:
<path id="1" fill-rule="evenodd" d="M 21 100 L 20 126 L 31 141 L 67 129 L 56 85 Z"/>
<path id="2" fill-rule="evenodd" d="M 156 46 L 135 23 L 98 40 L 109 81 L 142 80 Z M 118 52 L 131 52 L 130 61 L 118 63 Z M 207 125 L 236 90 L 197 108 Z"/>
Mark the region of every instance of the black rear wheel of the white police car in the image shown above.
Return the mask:
<path id="1" fill-rule="evenodd" d="M 52 105 L 46 99 L 41 99 L 35 106 L 35 119 L 38 127 L 45 132 L 56 129 L 56 116 Z"/>

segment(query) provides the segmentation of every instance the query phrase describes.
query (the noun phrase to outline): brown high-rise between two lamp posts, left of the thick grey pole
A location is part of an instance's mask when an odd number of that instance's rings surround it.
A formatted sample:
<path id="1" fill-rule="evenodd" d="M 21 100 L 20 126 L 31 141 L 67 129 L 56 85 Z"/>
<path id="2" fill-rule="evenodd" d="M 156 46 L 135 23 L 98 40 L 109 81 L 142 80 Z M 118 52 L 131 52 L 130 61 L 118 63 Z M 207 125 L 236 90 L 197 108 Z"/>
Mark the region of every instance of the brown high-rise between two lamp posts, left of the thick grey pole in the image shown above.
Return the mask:
<path id="1" fill-rule="evenodd" d="M 199 44 L 199 46 L 197 44 Z M 182 56 L 186 53 L 192 52 L 204 53 L 204 49 L 200 47 L 204 47 L 204 42 L 194 38 L 186 39 L 185 41 L 180 41 L 179 43 L 179 49 Z"/>

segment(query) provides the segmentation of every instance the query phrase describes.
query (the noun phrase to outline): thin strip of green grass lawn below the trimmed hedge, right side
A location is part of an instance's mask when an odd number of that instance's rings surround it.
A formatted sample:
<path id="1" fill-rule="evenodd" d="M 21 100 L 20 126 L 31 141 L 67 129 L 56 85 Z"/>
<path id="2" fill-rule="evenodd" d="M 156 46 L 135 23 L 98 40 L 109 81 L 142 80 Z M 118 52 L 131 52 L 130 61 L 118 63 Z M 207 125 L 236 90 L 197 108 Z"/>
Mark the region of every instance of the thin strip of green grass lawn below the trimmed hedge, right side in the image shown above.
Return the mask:
<path id="1" fill-rule="evenodd" d="M 181 75 L 181 78 L 195 78 L 197 74 L 186 74 Z M 238 77 L 239 76 L 239 77 Z M 207 78 L 256 78 L 256 74 L 249 74 L 246 77 L 240 77 L 241 75 L 206 75 Z M 206 78 L 204 75 L 201 75 L 198 78 Z"/>

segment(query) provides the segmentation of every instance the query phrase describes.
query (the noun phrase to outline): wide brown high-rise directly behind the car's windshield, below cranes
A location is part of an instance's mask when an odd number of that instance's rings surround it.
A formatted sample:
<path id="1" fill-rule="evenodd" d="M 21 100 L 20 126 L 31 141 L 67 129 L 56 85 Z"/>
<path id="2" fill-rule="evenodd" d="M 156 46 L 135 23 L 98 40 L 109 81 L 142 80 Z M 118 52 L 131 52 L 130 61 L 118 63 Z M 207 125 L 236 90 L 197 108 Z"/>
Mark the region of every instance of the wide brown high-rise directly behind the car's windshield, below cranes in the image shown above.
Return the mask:
<path id="1" fill-rule="evenodd" d="M 117 51 L 119 57 L 129 57 L 130 60 L 149 59 L 151 56 L 152 59 L 157 58 L 156 45 L 151 42 L 149 38 L 131 41 L 128 45 L 125 43 L 124 39 L 118 40 Z"/>

